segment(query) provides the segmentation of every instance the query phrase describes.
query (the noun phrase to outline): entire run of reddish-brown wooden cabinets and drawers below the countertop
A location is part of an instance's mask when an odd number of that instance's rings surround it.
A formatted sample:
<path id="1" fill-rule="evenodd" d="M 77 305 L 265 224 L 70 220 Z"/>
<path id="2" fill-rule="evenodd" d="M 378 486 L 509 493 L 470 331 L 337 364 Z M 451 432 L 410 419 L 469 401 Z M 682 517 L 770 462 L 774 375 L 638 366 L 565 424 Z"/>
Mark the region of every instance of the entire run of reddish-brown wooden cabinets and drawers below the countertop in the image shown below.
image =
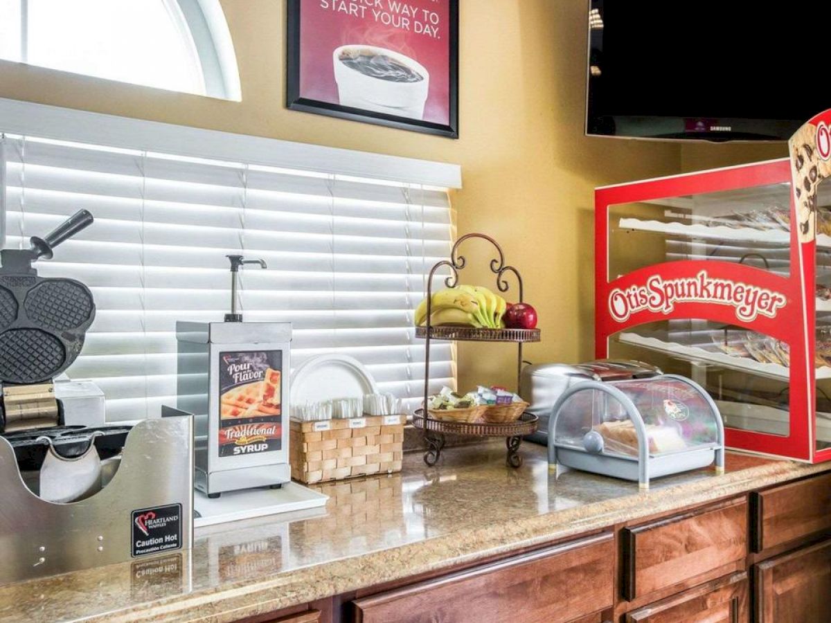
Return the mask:
<path id="1" fill-rule="evenodd" d="M 825 533 L 831 473 L 246 623 L 825 623 Z"/>

